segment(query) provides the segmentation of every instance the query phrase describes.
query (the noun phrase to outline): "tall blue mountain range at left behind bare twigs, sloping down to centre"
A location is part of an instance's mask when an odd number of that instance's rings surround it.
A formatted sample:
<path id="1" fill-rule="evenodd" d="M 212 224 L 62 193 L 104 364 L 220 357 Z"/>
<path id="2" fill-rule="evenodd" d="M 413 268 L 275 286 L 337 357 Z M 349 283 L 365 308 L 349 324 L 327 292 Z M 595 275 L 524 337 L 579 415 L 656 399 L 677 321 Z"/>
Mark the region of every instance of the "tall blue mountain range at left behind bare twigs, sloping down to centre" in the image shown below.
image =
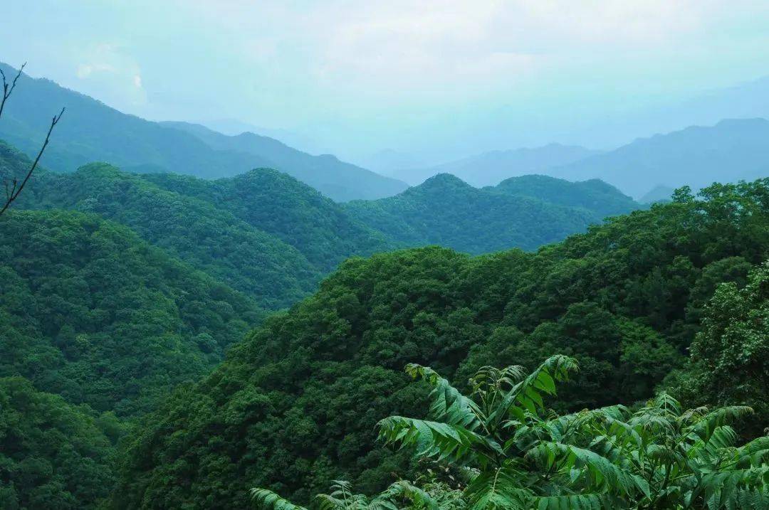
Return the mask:
<path id="1" fill-rule="evenodd" d="M 0 64 L 0 68 L 6 75 L 15 75 L 8 65 Z M 53 81 L 23 74 L 5 105 L 0 137 L 25 154 L 36 153 L 50 116 L 62 107 L 67 108 L 65 117 L 43 159 L 45 166 L 55 171 L 74 171 L 92 161 L 108 161 L 128 171 L 171 171 L 214 178 L 275 167 L 335 200 L 386 197 L 407 187 L 334 156 L 311 156 L 268 137 L 250 133 L 227 137 L 214 131 L 204 136 L 178 125 L 145 121 Z M 199 127 L 201 130 L 205 128 Z"/>

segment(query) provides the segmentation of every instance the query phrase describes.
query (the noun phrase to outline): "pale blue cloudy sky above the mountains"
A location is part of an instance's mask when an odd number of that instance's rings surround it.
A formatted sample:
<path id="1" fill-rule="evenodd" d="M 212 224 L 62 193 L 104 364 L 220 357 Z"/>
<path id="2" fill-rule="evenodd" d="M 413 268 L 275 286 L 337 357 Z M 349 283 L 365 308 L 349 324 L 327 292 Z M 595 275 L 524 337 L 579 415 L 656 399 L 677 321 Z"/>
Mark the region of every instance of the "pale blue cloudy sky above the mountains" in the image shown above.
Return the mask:
<path id="1" fill-rule="evenodd" d="M 0 60 L 29 75 L 354 161 L 609 148 L 649 134 L 624 118 L 769 75 L 759 0 L 3 3 Z"/>

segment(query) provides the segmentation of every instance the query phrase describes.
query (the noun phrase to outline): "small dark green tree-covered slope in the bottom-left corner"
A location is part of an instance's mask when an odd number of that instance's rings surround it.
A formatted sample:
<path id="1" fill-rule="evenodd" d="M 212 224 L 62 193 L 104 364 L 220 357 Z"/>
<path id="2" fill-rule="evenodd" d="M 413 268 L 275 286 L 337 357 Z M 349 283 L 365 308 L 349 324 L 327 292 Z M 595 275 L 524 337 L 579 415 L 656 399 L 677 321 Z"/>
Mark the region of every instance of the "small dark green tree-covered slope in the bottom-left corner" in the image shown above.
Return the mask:
<path id="1" fill-rule="evenodd" d="M 109 416 L 0 378 L 0 508 L 97 508 L 115 482 Z"/>

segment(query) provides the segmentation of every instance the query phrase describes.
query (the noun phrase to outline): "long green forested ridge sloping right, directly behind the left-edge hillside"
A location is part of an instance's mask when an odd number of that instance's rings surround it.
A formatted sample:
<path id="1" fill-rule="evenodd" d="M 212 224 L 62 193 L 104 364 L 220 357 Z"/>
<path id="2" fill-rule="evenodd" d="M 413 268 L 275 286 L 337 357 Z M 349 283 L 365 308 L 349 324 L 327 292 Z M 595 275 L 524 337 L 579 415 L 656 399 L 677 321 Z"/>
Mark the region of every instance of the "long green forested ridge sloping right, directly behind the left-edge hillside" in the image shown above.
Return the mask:
<path id="1" fill-rule="evenodd" d="M 228 211 L 108 164 L 69 174 L 41 172 L 18 207 L 81 210 L 124 224 L 268 309 L 300 300 L 325 273 L 294 247 Z"/>

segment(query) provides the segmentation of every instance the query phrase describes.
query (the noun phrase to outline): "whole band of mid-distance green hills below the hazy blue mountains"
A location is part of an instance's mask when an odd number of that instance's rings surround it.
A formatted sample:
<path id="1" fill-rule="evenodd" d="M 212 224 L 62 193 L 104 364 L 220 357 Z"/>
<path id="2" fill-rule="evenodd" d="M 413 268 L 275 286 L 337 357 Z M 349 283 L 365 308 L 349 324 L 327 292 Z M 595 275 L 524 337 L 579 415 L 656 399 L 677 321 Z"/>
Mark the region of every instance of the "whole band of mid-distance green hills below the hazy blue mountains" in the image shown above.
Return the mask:
<path id="1" fill-rule="evenodd" d="M 7 144 L 0 157 L 3 172 L 29 164 Z M 440 176 L 390 199 L 335 204 L 269 169 L 203 180 L 88 164 L 38 171 L 15 207 L 99 214 L 276 310 L 353 255 L 431 243 L 471 253 L 532 250 L 636 205 L 600 181 L 542 176 L 484 190 Z"/>

